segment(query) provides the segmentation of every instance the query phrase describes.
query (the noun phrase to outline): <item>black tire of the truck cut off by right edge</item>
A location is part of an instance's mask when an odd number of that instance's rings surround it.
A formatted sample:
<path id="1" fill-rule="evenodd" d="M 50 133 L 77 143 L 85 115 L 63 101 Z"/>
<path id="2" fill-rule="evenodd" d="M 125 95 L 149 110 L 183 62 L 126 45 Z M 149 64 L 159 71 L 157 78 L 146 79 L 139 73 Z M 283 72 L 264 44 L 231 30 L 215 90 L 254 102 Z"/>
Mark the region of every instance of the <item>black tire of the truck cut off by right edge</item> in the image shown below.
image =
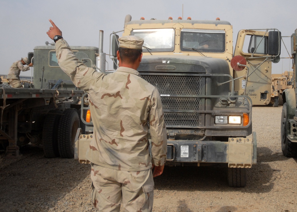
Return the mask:
<path id="1" fill-rule="evenodd" d="M 287 138 L 287 122 L 287 103 L 285 102 L 282 106 L 282 118 L 280 126 L 282 153 L 286 157 L 297 157 L 297 143 L 293 143 Z"/>

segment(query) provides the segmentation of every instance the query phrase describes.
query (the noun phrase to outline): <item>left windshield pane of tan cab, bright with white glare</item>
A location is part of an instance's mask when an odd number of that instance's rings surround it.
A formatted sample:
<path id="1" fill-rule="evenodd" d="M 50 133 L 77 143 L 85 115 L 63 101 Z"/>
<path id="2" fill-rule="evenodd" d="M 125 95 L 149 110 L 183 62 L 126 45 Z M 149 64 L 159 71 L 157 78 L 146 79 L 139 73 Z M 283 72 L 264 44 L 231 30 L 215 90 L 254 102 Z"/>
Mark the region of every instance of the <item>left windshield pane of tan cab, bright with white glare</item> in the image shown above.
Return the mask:
<path id="1" fill-rule="evenodd" d="M 133 29 L 131 35 L 144 39 L 143 46 L 146 48 L 142 48 L 143 52 L 172 52 L 174 50 L 174 29 Z"/>

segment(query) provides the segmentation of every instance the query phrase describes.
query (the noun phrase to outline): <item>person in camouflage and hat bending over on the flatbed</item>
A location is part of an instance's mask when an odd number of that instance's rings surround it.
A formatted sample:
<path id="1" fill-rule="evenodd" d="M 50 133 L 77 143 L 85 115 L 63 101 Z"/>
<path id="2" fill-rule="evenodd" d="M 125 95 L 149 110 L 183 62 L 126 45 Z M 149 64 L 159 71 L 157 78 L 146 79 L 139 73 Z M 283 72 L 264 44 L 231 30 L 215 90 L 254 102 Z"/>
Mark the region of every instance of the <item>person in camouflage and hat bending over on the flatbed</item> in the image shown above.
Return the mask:
<path id="1" fill-rule="evenodd" d="M 28 71 L 30 70 L 31 66 L 33 66 L 33 64 L 29 63 L 28 58 L 26 57 L 22 58 L 21 60 L 15 61 L 11 65 L 7 75 L 7 80 L 12 88 L 23 88 L 20 81 L 20 71 Z"/>

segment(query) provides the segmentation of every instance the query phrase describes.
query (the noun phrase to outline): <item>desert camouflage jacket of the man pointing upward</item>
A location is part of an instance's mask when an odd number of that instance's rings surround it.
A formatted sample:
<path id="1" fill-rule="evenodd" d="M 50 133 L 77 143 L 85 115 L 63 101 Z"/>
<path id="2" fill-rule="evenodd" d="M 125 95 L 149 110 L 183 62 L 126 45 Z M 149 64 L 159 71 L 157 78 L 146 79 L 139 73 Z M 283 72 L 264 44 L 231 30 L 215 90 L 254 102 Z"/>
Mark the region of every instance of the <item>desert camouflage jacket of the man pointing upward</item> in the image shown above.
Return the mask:
<path id="1" fill-rule="evenodd" d="M 86 67 L 64 39 L 56 42 L 56 54 L 61 69 L 89 96 L 94 134 L 87 159 L 123 171 L 146 170 L 152 163 L 163 165 L 167 132 L 157 88 L 131 68 L 119 67 L 116 72 L 103 74 Z"/>

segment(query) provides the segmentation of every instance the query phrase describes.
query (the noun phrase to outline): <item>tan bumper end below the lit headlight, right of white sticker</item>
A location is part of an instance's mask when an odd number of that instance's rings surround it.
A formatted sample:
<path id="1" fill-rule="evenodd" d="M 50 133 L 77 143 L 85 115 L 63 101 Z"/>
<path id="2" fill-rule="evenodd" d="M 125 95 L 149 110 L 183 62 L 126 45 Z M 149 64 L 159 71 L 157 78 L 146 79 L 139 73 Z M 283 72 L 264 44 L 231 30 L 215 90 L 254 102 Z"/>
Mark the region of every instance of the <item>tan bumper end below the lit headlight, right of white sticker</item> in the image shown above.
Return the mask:
<path id="1" fill-rule="evenodd" d="M 244 137 L 229 138 L 228 167 L 251 168 L 257 163 L 257 141 L 253 132 L 252 139 Z"/>

